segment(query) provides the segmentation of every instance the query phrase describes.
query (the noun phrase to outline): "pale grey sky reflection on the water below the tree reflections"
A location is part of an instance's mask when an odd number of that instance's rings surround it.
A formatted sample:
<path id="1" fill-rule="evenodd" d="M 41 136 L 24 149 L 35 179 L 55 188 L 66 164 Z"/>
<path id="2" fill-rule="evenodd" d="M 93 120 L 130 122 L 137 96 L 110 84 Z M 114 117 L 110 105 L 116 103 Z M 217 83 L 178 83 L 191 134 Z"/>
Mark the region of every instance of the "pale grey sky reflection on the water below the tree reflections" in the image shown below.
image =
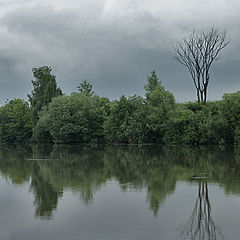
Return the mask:
<path id="1" fill-rule="evenodd" d="M 34 219 L 33 194 L 28 186 L 0 181 L 1 239 L 176 239 L 192 213 L 198 183 L 178 182 L 174 194 L 161 205 L 157 217 L 149 210 L 146 189 L 122 190 L 115 180 L 95 192 L 85 205 L 76 193 L 64 192 L 50 220 Z M 225 195 L 209 184 L 215 225 L 228 239 L 240 235 L 240 198 Z"/>

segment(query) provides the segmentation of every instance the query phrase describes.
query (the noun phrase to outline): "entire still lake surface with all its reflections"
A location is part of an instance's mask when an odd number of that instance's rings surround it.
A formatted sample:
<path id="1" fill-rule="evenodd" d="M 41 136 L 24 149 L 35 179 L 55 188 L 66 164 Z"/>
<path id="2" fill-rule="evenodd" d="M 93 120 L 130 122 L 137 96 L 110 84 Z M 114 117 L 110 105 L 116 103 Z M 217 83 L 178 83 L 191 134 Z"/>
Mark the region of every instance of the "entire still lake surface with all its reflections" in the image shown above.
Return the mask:
<path id="1" fill-rule="evenodd" d="M 240 149 L 0 151 L 0 239 L 240 239 Z"/>

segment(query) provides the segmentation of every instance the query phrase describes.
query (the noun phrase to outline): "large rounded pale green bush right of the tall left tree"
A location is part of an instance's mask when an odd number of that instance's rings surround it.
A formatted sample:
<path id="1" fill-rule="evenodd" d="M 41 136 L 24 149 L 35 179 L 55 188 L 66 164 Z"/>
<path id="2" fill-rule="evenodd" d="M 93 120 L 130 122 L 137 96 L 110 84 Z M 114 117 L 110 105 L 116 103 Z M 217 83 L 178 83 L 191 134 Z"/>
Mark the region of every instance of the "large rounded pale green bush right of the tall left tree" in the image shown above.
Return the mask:
<path id="1" fill-rule="evenodd" d="M 40 114 L 34 133 L 41 137 L 48 131 L 56 143 L 102 142 L 108 102 L 106 98 L 79 93 L 54 98 Z"/>

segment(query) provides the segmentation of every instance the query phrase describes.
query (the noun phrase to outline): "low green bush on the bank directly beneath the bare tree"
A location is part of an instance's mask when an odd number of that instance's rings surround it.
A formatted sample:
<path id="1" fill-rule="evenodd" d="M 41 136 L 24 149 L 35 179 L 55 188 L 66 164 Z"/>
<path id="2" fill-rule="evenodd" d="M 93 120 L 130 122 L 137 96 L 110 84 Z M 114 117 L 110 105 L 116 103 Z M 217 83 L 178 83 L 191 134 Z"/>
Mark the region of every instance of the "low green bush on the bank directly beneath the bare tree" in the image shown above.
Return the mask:
<path id="1" fill-rule="evenodd" d="M 226 124 L 219 112 L 219 103 L 182 104 L 169 118 L 164 142 L 166 144 L 219 144 L 227 143 Z"/>

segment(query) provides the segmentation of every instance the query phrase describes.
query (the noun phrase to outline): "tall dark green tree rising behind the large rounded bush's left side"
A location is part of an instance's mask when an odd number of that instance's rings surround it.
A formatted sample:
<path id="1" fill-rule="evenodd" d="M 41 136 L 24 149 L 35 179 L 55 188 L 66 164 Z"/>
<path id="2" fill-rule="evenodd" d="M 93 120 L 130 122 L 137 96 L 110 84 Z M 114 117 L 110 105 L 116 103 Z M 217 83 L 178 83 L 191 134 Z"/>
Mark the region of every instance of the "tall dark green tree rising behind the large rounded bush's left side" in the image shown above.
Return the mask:
<path id="1" fill-rule="evenodd" d="M 62 95 L 62 91 L 57 87 L 56 77 L 51 74 L 52 68 L 43 66 L 33 68 L 34 80 L 32 80 L 33 90 L 28 95 L 32 109 L 32 120 L 35 126 L 39 116 L 38 113 L 44 106 L 47 106 L 54 97 Z"/>

